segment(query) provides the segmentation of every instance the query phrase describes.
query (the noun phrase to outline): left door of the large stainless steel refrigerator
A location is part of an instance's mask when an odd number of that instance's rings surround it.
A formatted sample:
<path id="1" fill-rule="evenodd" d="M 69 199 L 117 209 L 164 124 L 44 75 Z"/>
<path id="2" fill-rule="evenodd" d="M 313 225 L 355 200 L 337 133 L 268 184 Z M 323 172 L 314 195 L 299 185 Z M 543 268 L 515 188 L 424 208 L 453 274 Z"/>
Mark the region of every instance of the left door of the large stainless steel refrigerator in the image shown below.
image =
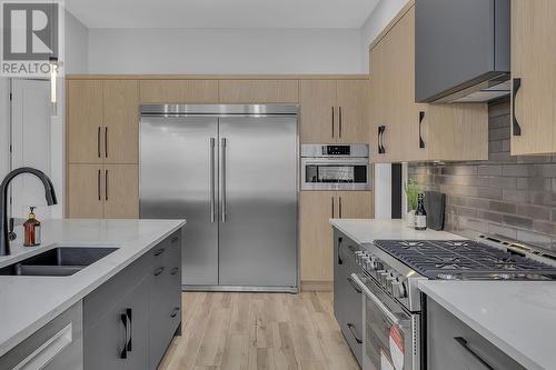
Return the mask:
<path id="1" fill-rule="evenodd" d="M 186 219 L 182 284 L 218 284 L 218 118 L 141 117 L 140 218 Z"/>

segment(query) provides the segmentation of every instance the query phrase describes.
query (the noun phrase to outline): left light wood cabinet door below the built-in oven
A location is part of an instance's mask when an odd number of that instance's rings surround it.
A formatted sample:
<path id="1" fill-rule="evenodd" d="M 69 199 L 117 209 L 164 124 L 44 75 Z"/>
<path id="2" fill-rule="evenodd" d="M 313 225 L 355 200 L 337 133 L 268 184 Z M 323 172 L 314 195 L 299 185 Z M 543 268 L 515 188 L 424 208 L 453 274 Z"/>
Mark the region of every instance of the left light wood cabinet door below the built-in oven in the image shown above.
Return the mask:
<path id="1" fill-rule="evenodd" d="M 332 228 L 329 219 L 338 216 L 334 191 L 301 191 L 299 242 L 301 281 L 334 280 Z"/>

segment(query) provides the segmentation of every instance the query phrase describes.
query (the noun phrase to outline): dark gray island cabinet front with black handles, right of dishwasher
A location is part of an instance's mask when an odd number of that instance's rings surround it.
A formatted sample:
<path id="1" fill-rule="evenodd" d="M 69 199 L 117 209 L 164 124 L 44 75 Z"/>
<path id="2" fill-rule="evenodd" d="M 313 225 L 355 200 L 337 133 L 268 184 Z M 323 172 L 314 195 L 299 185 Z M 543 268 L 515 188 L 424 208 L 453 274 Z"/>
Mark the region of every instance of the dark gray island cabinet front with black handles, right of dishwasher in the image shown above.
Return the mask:
<path id="1" fill-rule="evenodd" d="M 180 233 L 83 299 L 85 370 L 157 369 L 181 322 Z"/>

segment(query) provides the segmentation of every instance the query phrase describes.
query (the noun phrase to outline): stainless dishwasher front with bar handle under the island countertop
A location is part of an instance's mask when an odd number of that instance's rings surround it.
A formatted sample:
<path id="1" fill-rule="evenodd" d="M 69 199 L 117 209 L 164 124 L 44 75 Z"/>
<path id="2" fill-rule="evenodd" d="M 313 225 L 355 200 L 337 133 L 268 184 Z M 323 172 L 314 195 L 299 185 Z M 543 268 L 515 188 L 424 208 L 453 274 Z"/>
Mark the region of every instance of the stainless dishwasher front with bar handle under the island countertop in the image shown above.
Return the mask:
<path id="1" fill-rule="evenodd" d="M 2 356 L 0 369 L 83 369 L 82 329 L 78 302 Z"/>

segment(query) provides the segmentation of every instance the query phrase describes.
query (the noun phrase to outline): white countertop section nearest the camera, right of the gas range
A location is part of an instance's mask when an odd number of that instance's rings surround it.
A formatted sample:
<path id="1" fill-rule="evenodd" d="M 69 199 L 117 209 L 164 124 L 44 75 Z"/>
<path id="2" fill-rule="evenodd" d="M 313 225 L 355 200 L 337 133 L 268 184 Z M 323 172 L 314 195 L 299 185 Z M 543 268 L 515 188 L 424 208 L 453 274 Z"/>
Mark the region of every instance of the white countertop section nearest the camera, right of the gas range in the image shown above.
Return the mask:
<path id="1" fill-rule="evenodd" d="M 556 368 L 556 282 L 428 280 L 419 289 L 526 369 Z"/>

